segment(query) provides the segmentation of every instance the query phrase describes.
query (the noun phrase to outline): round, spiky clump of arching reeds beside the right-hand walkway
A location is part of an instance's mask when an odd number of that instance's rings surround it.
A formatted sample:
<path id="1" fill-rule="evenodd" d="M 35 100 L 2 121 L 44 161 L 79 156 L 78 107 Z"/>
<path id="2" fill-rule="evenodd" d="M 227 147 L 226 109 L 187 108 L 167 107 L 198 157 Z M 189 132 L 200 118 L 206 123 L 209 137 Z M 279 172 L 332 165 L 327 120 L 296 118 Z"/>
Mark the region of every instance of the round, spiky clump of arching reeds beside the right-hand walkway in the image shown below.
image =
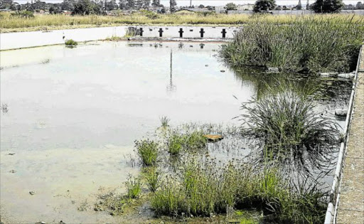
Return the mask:
<path id="1" fill-rule="evenodd" d="M 302 93 L 271 90 L 243 103 L 242 110 L 242 134 L 255 141 L 259 162 L 274 161 L 301 171 L 330 164 L 339 139 L 337 124 L 315 111 L 314 102 Z"/>

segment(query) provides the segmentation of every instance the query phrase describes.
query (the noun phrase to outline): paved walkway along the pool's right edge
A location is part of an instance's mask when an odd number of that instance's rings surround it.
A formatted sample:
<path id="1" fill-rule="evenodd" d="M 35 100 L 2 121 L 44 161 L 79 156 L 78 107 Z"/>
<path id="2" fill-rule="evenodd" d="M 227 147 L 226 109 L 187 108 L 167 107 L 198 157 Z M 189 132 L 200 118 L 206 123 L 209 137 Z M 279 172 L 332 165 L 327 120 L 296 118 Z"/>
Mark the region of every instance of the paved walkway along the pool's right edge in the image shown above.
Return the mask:
<path id="1" fill-rule="evenodd" d="M 364 50 L 356 91 L 336 218 L 338 224 L 364 223 Z"/>

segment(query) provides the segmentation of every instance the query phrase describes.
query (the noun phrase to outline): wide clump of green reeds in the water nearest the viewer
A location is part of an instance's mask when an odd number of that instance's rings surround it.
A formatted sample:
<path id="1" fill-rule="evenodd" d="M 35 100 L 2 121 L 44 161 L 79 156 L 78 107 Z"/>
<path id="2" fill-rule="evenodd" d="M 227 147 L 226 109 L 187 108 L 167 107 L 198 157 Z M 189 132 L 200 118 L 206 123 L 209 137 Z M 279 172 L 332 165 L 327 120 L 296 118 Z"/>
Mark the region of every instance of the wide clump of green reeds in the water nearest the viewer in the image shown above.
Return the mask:
<path id="1" fill-rule="evenodd" d="M 216 166 L 188 163 L 171 176 L 151 199 L 157 214 L 203 215 L 226 213 L 228 208 L 257 208 L 270 220 L 282 223 L 320 223 L 325 194 L 307 185 L 291 185 L 278 169 L 253 169 L 247 164 Z M 296 189 L 306 189 L 299 191 Z"/>

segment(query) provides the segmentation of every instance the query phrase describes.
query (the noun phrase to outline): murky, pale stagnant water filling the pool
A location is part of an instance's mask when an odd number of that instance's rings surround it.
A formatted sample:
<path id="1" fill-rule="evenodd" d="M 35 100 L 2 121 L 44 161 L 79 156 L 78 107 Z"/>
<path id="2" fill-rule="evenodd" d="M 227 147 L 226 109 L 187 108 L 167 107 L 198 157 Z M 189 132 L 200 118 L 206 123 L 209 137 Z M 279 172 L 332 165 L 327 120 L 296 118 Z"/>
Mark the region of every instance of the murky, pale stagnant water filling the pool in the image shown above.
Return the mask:
<path id="1" fill-rule="evenodd" d="M 219 48 L 220 43 L 94 42 L 1 52 L 1 219 L 124 220 L 92 205 L 97 194 L 138 174 L 139 167 L 128 163 L 134 140 L 151 136 L 162 116 L 174 127 L 237 126 L 232 118 L 241 114 L 240 103 L 262 95 L 276 79 L 230 70 L 220 62 Z M 346 105 L 351 84 L 322 83 L 328 98 L 316 110 L 332 117 Z M 317 80 L 307 85 L 320 87 Z M 220 158 L 248 153 L 221 147 L 211 148 Z"/>

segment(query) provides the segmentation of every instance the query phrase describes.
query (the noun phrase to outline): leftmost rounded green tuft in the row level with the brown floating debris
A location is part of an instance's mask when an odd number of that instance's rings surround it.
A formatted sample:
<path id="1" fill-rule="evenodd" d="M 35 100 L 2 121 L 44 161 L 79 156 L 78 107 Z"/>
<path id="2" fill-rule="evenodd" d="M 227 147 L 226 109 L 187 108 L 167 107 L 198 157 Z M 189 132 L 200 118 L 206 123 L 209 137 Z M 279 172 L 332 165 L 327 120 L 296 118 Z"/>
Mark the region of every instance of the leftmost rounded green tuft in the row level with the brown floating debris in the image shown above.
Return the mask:
<path id="1" fill-rule="evenodd" d="M 141 158 L 144 166 L 154 166 L 158 156 L 158 144 L 152 140 L 146 139 L 135 141 L 137 154 Z"/>

